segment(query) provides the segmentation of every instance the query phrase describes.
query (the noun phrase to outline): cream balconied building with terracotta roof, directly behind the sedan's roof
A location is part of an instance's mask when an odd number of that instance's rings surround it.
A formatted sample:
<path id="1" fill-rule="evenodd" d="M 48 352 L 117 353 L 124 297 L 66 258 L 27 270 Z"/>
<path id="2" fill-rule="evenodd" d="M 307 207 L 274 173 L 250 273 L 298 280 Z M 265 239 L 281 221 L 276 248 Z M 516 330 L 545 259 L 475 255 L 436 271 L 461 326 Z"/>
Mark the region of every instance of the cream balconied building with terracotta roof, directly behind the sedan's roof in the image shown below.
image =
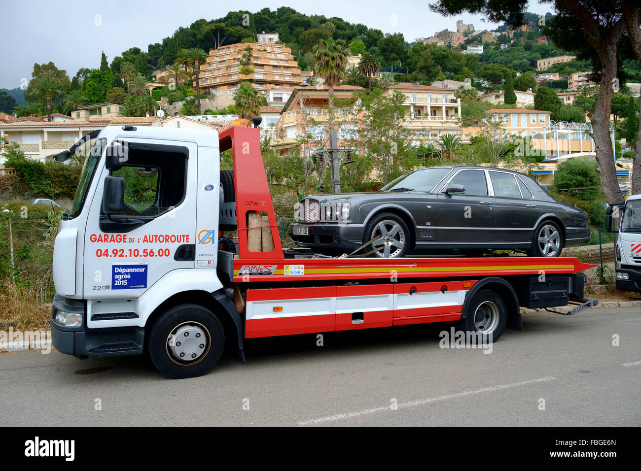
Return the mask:
<path id="1" fill-rule="evenodd" d="M 385 88 L 383 95 L 400 92 L 405 96 L 406 116 L 403 126 L 416 136 L 418 142 L 435 142 L 444 134 L 457 134 L 463 142 L 460 128 L 461 101 L 454 96 L 453 88 L 428 87 L 413 83 L 399 83 Z"/>

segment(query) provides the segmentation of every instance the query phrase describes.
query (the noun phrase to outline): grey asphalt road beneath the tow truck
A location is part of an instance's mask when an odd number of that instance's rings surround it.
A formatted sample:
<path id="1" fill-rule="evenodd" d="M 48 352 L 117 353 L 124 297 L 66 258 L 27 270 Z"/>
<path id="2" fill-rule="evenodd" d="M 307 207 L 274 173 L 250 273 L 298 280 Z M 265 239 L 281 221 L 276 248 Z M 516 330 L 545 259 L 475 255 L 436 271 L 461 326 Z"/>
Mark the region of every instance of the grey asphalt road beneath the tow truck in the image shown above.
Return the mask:
<path id="1" fill-rule="evenodd" d="M 252 340 L 179 381 L 142 356 L 2 354 L 0 426 L 641 425 L 638 307 L 526 314 L 490 354 L 443 329 Z"/>

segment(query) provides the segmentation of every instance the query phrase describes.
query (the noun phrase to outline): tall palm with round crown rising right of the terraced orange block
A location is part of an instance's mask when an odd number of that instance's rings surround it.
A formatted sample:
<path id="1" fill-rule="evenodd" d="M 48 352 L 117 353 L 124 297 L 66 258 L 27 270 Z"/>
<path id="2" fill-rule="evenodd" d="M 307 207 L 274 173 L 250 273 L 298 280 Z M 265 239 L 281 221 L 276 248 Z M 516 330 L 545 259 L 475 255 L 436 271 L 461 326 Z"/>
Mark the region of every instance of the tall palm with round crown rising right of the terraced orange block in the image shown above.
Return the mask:
<path id="1" fill-rule="evenodd" d="M 351 51 L 345 46 L 344 40 L 338 39 L 335 41 L 332 38 L 327 38 L 315 45 L 313 52 L 316 59 L 317 74 L 325 79 L 325 83 L 328 86 L 328 126 L 329 129 L 334 129 L 334 87 L 340 83 L 345 75 L 347 56 Z"/>

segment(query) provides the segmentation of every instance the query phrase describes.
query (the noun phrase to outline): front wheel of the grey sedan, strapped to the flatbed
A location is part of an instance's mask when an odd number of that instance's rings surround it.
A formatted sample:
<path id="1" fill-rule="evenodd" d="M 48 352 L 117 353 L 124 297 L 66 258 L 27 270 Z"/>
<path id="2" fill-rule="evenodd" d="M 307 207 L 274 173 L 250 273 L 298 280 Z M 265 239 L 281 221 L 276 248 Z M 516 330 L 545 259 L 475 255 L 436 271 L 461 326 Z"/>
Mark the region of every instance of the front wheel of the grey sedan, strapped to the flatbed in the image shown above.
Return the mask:
<path id="1" fill-rule="evenodd" d="M 364 249 L 365 253 L 376 248 L 379 249 L 370 256 L 399 258 L 408 251 L 410 231 L 401 217 L 392 213 L 381 213 L 374 216 L 365 226 L 363 244 L 372 240 L 376 235 L 381 235 L 381 238 L 367 245 Z"/>

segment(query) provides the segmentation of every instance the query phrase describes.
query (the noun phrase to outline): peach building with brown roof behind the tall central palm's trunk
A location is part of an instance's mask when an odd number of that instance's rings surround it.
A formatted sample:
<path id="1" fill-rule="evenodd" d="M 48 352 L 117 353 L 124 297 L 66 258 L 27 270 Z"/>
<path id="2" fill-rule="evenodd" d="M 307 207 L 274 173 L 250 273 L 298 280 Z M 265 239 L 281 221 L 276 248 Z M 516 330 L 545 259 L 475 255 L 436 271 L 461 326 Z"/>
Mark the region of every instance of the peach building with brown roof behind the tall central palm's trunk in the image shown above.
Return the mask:
<path id="1" fill-rule="evenodd" d="M 363 90 L 352 85 L 334 87 L 336 100 L 351 98 L 354 92 Z M 328 145 L 329 89 L 320 87 L 296 87 L 281 110 L 280 117 L 274 126 L 274 139 L 270 145 L 280 154 L 310 154 L 312 149 Z M 338 147 L 345 140 L 358 136 L 358 117 L 351 107 L 335 109 L 335 120 L 338 127 Z M 269 125 L 269 123 L 268 123 Z M 312 138 L 308 139 L 307 136 Z M 306 141 L 303 145 L 302 141 Z"/>

